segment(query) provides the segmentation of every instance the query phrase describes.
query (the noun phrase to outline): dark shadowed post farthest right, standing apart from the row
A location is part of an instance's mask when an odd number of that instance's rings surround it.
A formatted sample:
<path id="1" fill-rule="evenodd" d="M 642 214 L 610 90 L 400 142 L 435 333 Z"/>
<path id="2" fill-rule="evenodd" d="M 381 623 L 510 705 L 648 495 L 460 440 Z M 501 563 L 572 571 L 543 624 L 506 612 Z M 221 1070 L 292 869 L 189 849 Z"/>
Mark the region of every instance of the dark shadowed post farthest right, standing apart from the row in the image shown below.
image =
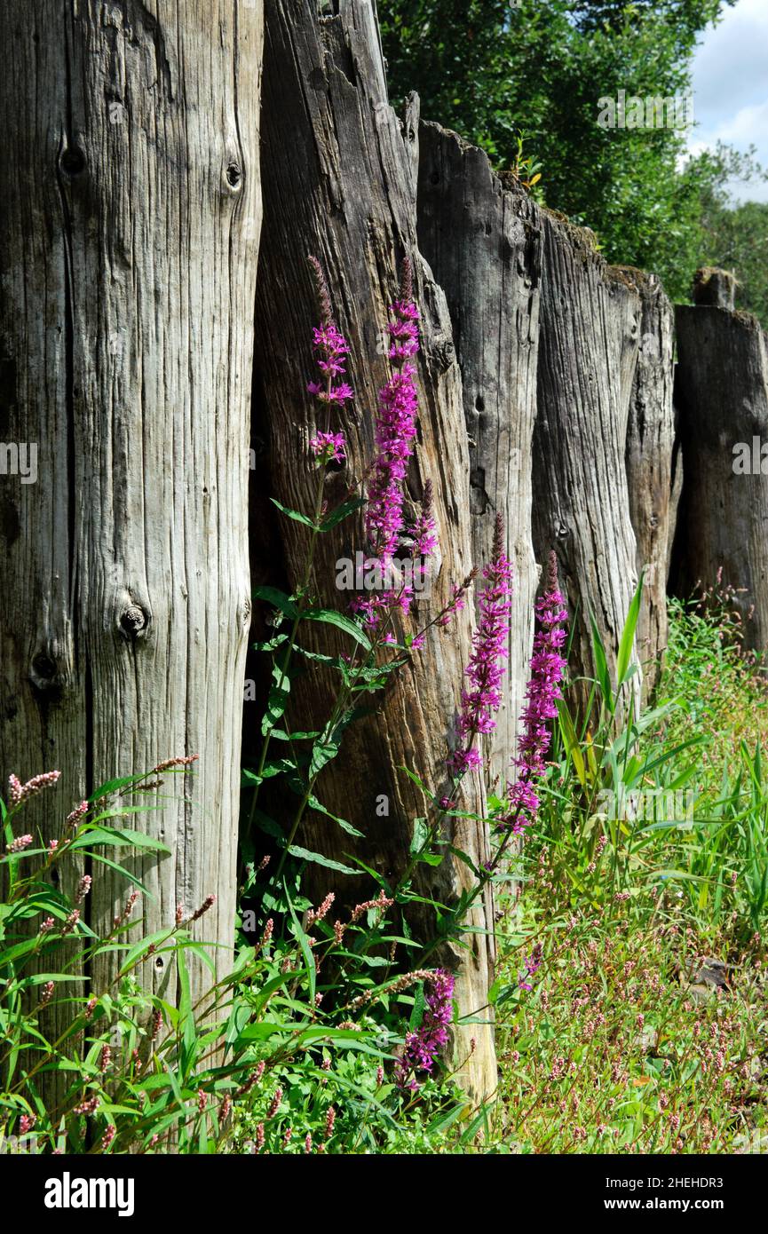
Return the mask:
<path id="1" fill-rule="evenodd" d="M 690 596 L 722 569 L 724 584 L 743 589 L 736 598 L 745 645 L 766 650 L 768 460 L 759 449 L 768 442 L 768 339 L 746 312 L 678 305 L 675 318 L 683 492 L 670 585 Z M 746 474 L 738 443 L 748 452 Z"/>

